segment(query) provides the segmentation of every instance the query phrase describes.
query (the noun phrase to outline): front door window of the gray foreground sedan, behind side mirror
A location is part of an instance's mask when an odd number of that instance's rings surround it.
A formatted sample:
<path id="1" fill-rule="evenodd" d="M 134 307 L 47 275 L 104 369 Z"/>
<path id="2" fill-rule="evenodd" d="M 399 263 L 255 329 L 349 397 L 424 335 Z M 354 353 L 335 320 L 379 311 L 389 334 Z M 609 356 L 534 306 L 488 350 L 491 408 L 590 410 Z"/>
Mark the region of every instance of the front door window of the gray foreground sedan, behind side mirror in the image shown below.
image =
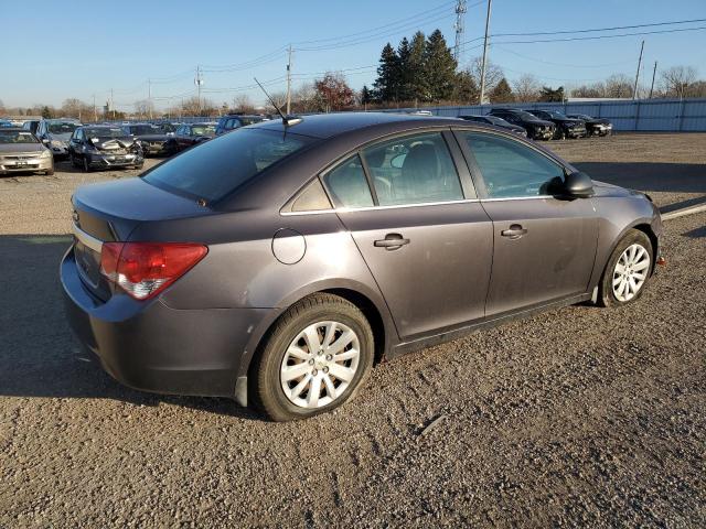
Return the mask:
<path id="1" fill-rule="evenodd" d="M 481 132 L 463 132 L 481 170 L 489 198 L 550 194 L 560 182 L 560 165 L 517 141 Z"/>

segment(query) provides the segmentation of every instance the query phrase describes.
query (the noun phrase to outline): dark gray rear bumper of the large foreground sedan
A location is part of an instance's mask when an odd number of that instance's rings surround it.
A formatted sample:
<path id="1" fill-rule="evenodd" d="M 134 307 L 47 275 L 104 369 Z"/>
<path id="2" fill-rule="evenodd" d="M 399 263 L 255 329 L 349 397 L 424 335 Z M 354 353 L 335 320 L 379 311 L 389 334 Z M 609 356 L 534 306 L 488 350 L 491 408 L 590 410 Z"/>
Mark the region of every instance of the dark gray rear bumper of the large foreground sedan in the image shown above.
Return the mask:
<path id="1" fill-rule="evenodd" d="M 270 309 L 176 310 L 85 288 L 73 248 L 61 264 L 66 316 L 78 341 L 119 382 L 158 393 L 234 397 L 253 330 Z M 240 373 L 242 375 L 242 373 Z"/>

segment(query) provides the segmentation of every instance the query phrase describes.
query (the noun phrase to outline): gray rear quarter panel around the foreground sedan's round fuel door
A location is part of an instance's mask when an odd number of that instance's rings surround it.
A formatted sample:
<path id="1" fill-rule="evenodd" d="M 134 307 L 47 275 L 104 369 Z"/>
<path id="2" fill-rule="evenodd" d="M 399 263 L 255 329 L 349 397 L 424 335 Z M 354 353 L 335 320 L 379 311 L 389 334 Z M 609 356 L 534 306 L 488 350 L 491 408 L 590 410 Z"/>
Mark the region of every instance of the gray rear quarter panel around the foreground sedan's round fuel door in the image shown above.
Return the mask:
<path id="1" fill-rule="evenodd" d="M 288 237 L 303 238 L 306 245 L 301 259 L 291 264 L 278 260 L 272 251 L 275 234 L 284 228 Z M 397 332 L 379 289 L 351 234 L 333 212 L 286 216 L 279 212 L 249 210 L 142 223 L 130 240 L 207 245 L 206 257 L 164 292 L 161 300 L 171 309 L 184 310 L 272 309 L 252 330 L 248 355 L 284 310 L 324 290 L 345 289 L 367 298 L 383 321 L 384 349 L 397 343 Z"/>

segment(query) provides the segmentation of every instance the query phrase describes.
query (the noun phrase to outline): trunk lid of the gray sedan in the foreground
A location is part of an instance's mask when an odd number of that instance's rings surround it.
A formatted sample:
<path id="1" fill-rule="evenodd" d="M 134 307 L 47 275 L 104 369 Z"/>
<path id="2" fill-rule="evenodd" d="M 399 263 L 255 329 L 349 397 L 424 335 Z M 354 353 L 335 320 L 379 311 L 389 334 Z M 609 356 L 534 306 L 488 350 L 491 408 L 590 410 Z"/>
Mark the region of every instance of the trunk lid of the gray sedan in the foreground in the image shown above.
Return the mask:
<path id="1" fill-rule="evenodd" d="M 74 256 L 82 281 L 107 301 L 114 285 L 100 273 L 103 242 L 127 241 L 141 223 L 210 214 L 193 199 L 154 187 L 141 179 L 79 187 L 74 207 Z"/>

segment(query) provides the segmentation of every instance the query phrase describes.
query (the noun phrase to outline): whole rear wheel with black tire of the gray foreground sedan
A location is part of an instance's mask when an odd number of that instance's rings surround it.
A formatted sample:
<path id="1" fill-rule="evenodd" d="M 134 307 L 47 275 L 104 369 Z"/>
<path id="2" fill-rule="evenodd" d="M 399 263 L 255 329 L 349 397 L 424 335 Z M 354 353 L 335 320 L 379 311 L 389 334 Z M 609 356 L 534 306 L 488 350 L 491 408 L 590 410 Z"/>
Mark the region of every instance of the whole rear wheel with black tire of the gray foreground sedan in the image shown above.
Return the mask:
<path id="1" fill-rule="evenodd" d="M 274 421 L 306 419 L 352 399 L 373 365 L 365 315 L 338 295 L 312 294 L 285 312 L 250 367 L 250 398 Z"/>

